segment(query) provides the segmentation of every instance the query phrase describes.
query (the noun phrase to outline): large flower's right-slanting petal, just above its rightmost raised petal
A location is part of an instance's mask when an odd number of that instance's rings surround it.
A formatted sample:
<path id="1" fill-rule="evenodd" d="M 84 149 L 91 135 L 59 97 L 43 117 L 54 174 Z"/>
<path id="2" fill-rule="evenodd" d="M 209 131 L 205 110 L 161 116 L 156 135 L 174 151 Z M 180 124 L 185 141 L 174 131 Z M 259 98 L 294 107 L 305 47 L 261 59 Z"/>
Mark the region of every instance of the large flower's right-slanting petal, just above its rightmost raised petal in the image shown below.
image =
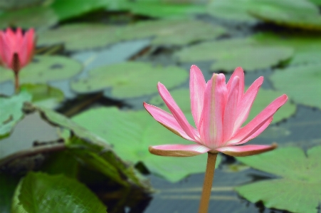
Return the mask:
<path id="1" fill-rule="evenodd" d="M 261 76 L 252 83 L 252 85 L 243 95 L 243 98 L 241 98 L 241 100 L 238 102 L 238 112 L 233 133 L 236 133 L 236 131 L 239 128 L 241 128 L 241 125 L 248 118 L 248 114 L 250 113 L 251 107 L 253 105 L 254 100 L 256 99 L 256 95 L 258 94 L 258 90 L 260 89 L 262 83 L 263 77 Z"/>

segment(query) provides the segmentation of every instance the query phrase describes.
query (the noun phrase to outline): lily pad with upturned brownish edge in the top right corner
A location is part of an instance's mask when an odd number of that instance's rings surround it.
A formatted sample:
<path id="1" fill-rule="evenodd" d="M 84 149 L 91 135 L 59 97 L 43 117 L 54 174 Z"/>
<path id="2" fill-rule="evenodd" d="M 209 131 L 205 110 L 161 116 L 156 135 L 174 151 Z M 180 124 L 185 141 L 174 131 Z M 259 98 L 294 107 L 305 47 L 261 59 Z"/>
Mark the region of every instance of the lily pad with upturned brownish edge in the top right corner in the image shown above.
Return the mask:
<path id="1" fill-rule="evenodd" d="M 316 5 L 305 0 L 265 0 L 248 12 L 263 21 L 281 26 L 321 31 L 321 14 Z"/>

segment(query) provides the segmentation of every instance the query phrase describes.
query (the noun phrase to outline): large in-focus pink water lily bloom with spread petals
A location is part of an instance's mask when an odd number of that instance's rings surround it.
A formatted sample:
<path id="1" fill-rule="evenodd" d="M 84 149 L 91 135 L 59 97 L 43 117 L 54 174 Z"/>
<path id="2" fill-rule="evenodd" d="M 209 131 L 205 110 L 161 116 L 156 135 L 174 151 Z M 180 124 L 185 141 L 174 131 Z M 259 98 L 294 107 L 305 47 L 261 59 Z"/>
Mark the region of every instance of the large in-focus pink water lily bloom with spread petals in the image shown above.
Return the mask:
<path id="1" fill-rule="evenodd" d="M 262 83 L 261 76 L 244 93 L 242 68 L 236 68 L 228 83 L 223 74 L 216 73 L 206 83 L 199 68 L 191 66 L 189 80 L 191 113 L 196 128 L 186 120 L 167 88 L 158 83 L 159 94 L 172 114 L 147 103 L 144 103 L 144 108 L 164 127 L 195 144 L 151 146 L 149 152 L 154 155 L 177 157 L 200 155 L 205 152 L 248 156 L 273 150 L 276 145 L 243 145 L 268 127 L 274 113 L 288 99 L 287 95 L 281 95 L 256 118 L 241 127 L 248 118 Z"/>

